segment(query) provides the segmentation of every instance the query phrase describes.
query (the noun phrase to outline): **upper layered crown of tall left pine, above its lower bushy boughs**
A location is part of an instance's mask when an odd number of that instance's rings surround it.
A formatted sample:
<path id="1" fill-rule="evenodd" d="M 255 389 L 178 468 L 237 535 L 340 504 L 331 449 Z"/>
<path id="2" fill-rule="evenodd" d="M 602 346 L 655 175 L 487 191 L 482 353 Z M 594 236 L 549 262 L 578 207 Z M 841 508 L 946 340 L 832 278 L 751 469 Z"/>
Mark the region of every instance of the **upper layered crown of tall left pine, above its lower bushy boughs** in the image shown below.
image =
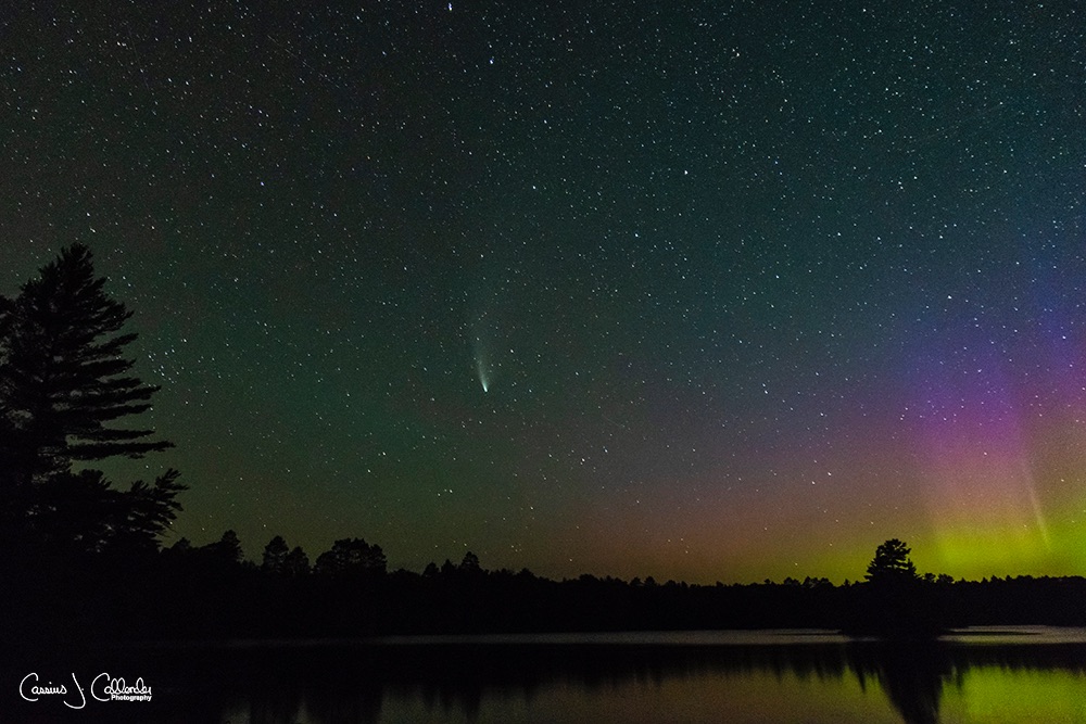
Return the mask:
<path id="1" fill-rule="evenodd" d="M 0 395 L 3 423 L 20 455 L 5 460 L 15 484 L 102 460 L 172 447 L 153 430 L 110 427 L 150 408 L 159 388 L 127 373 L 135 333 L 121 333 L 131 313 L 103 290 L 90 250 L 74 244 L 0 306 Z M 14 463 L 14 465 L 11 465 Z"/>

